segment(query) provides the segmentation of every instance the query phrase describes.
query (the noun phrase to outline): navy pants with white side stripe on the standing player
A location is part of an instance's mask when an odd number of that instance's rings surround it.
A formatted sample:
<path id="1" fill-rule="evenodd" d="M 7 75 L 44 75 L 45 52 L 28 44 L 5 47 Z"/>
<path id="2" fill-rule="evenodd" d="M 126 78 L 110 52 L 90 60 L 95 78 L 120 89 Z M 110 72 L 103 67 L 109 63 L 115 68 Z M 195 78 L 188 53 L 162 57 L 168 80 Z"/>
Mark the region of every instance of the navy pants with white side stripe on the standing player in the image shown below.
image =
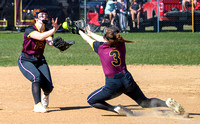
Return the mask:
<path id="1" fill-rule="evenodd" d="M 44 56 L 33 58 L 22 53 L 18 59 L 18 66 L 22 74 L 32 82 L 32 93 L 35 103 L 41 101 L 41 91 L 49 95 L 53 90 L 50 70 Z"/>

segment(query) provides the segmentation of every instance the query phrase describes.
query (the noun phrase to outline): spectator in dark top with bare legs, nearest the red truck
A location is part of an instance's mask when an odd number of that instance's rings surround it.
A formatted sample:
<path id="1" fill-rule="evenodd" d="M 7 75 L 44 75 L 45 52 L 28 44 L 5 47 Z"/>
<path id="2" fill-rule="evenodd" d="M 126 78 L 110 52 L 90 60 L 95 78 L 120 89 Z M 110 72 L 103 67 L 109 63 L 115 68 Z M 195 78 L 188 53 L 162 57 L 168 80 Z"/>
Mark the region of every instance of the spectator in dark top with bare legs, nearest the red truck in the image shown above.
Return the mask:
<path id="1" fill-rule="evenodd" d="M 132 0 L 129 9 L 133 21 L 133 28 L 135 28 L 135 16 L 137 16 L 137 28 L 139 28 L 141 4 L 137 0 Z"/>

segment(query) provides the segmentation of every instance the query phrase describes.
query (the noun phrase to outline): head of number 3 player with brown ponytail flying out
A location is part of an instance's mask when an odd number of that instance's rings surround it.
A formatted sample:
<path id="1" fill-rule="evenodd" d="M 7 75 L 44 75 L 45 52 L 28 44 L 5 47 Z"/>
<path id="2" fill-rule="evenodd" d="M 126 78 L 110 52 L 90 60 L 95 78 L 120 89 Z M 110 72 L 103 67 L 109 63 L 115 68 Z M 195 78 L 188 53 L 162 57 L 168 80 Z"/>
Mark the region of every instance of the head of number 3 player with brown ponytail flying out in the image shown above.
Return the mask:
<path id="1" fill-rule="evenodd" d="M 119 28 L 115 25 L 107 27 L 104 32 L 104 38 L 108 40 L 111 47 L 117 47 L 120 42 L 135 43 L 135 41 L 124 40 L 119 33 Z"/>

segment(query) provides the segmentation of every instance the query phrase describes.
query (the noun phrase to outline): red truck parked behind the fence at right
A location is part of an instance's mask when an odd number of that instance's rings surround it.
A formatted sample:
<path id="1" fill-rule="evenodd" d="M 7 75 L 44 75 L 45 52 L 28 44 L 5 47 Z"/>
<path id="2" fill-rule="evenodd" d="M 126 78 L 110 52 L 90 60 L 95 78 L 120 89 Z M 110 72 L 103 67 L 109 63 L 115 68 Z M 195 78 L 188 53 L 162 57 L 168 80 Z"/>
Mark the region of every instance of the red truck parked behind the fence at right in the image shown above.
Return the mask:
<path id="1" fill-rule="evenodd" d="M 158 13 L 159 6 L 159 13 Z M 183 25 L 192 24 L 192 11 L 184 10 L 182 0 L 143 0 L 142 3 L 142 22 L 140 30 L 144 31 L 145 27 L 153 26 L 157 31 L 157 17 L 159 15 L 159 30 L 165 26 L 175 26 L 178 31 L 183 30 Z M 200 0 L 197 0 L 197 6 L 194 8 L 195 28 L 200 30 Z"/>

